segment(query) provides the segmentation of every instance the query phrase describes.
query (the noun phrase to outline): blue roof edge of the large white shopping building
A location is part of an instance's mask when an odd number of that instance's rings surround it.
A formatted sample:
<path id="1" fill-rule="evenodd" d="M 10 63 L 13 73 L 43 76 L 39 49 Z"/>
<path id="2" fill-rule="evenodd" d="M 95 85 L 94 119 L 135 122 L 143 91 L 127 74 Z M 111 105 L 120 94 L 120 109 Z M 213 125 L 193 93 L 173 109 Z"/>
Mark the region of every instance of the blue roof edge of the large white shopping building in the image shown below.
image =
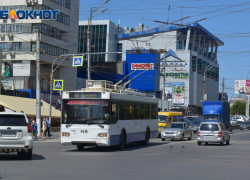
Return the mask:
<path id="1" fill-rule="evenodd" d="M 120 34 L 120 35 L 117 35 L 116 37 L 118 39 L 124 39 L 124 38 L 131 38 L 134 36 L 144 36 L 144 35 L 149 35 L 149 34 L 162 33 L 162 32 L 166 32 L 166 31 L 184 30 L 184 29 L 187 29 L 189 27 L 198 28 L 199 29 L 198 31 L 200 34 L 209 35 L 213 40 L 217 41 L 218 45 L 220 45 L 220 46 L 224 45 L 223 41 L 221 41 L 219 38 L 214 36 L 212 33 L 210 33 L 207 29 L 205 29 L 203 26 L 201 26 L 197 22 L 186 25 L 186 26 L 176 26 L 176 25 L 175 26 L 166 26 L 166 27 L 157 28 L 154 30 L 145 30 L 145 31 L 138 31 L 138 32 L 132 32 L 132 33 L 127 33 L 127 34 Z"/>

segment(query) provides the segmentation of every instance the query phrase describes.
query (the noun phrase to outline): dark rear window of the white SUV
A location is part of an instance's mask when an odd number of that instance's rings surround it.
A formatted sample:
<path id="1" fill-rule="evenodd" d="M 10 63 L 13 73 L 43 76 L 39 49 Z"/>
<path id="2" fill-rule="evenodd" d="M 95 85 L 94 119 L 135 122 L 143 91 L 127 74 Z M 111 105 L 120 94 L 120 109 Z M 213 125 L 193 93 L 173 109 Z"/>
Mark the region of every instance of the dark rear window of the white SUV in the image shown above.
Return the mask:
<path id="1" fill-rule="evenodd" d="M 0 126 L 27 126 L 24 115 L 0 115 Z"/>

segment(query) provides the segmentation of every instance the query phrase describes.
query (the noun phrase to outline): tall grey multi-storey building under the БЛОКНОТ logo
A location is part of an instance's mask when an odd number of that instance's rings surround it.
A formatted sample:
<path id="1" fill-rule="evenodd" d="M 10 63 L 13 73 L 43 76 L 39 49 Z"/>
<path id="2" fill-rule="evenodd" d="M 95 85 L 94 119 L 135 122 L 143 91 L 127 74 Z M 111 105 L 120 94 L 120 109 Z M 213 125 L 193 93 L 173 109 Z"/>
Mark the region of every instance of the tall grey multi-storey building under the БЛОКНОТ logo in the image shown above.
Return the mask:
<path id="1" fill-rule="evenodd" d="M 13 77 L 3 77 L 5 88 L 36 89 L 36 34 L 41 35 L 41 90 L 49 91 L 51 64 L 62 54 L 77 54 L 79 0 L 11 0 L 0 1 L 1 10 L 59 10 L 56 20 L 0 20 L 0 48 L 3 62 L 13 65 Z M 60 60 L 57 61 L 58 64 Z M 4 70 L 4 65 L 2 65 Z M 77 70 L 66 60 L 54 74 L 64 80 L 64 90 L 76 89 Z"/>

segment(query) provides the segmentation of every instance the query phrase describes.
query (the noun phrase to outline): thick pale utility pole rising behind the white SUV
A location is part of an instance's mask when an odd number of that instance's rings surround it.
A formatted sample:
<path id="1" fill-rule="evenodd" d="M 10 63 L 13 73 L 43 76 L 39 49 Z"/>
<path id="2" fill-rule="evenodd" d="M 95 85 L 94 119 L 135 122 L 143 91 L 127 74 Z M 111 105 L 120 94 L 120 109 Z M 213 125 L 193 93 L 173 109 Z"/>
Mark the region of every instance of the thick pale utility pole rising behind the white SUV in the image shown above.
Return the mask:
<path id="1" fill-rule="evenodd" d="M 40 30 L 36 29 L 36 122 L 41 135 Z"/>

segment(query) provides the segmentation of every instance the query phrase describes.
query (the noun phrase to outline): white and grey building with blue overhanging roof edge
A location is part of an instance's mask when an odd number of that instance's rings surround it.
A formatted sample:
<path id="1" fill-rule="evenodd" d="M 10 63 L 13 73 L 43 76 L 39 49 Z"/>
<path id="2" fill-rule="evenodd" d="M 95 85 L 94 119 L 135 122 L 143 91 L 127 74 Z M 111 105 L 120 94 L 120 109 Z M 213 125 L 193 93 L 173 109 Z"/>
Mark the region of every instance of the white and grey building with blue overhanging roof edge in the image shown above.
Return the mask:
<path id="1" fill-rule="evenodd" d="M 138 53 L 142 49 L 166 50 L 160 65 L 154 65 L 160 66 L 161 76 L 151 78 L 159 78 L 160 89 L 165 89 L 164 99 L 170 99 L 173 107 L 201 113 L 204 79 L 207 100 L 218 100 L 217 50 L 224 45 L 220 39 L 198 23 L 154 30 L 143 30 L 142 26 L 137 31 L 117 35 L 122 61 L 126 61 L 126 50 L 136 49 Z M 148 62 L 141 58 L 139 63 Z"/>

